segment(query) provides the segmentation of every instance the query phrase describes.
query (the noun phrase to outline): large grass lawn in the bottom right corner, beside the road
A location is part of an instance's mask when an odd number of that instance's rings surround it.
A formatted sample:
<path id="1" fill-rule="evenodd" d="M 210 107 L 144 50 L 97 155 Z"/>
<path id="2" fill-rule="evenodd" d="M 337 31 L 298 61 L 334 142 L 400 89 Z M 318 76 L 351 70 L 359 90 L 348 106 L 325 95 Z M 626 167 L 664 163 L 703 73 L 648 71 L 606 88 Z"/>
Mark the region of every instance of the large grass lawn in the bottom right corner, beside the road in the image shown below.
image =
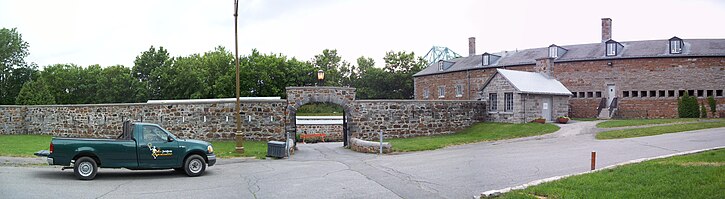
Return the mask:
<path id="1" fill-rule="evenodd" d="M 568 177 L 500 198 L 725 198 L 724 189 L 720 149 Z"/>

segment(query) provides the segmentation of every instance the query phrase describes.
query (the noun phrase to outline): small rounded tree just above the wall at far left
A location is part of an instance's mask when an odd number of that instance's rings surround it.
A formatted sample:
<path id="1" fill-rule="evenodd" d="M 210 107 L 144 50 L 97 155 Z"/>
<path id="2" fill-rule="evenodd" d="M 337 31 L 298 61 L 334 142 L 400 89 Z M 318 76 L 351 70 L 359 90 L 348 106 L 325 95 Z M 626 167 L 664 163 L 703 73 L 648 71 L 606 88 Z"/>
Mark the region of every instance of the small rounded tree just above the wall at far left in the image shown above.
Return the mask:
<path id="1" fill-rule="evenodd" d="M 45 105 L 55 104 L 55 99 L 50 93 L 47 84 L 43 79 L 38 81 L 29 80 L 23 84 L 18 97 L 15 100 L 18 105 Z"/>

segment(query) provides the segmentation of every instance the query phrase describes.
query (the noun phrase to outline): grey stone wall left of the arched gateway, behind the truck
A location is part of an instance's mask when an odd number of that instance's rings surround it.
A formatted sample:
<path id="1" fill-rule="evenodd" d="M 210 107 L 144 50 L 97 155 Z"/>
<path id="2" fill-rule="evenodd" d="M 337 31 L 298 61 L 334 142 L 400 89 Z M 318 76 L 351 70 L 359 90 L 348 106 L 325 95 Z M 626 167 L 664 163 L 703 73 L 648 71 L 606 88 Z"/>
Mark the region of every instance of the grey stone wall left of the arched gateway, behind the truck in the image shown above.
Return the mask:
<path id="1" fill-rule="evenodd" d="M 242 102 L 242 129 L 247 139 L 284 137 L 285 100 Z M 18 109 L 22 109 L 18 111 Z M 3 134 L 44 134 L 61 137 L 116 137 L 124 120 L 157 123 L 182 138 L 233 139 L 234 103 L 96 104 L 0 106 L 3 115 L 21 112 L 23 118 L 5 122 Z M 20 126 L 20 127 L 18 127 Z M 11 130 L 6 130 L 11 129 Z"/>

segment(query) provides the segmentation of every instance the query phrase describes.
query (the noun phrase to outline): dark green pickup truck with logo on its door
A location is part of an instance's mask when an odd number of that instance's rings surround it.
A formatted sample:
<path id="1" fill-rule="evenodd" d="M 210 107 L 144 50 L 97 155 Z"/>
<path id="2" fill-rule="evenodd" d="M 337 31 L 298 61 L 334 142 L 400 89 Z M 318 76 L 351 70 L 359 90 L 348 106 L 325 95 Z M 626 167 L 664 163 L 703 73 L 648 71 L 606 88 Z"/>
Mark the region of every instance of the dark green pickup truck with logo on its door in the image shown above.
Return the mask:
<path id="1" fill-rule="evenodd" d="M 81 180 L 91 180 L 98 168 L 130 170 L 174 169 L 188 176 L 199 176 L 207 164 L 216 163 L 210 143 L 179 139 L 156 124 L 123 123 L 116 139 L 53 138 L 50 150 L 39 151 L 48 164 L 73 168 Z"/>

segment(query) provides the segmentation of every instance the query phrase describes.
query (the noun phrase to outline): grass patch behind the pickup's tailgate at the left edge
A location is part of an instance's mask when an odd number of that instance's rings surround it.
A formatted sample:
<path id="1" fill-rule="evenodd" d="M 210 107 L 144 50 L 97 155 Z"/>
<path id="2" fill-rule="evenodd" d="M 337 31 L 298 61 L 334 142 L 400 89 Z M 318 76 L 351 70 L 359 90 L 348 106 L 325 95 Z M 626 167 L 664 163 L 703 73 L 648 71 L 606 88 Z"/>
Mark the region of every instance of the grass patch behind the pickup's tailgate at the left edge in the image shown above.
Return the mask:
<path id="1" fill-rule="evenodd" d="M 0 156 L 35 157 L 33 153 L 48 150 L 50 135 L 0 135 Z"/>

